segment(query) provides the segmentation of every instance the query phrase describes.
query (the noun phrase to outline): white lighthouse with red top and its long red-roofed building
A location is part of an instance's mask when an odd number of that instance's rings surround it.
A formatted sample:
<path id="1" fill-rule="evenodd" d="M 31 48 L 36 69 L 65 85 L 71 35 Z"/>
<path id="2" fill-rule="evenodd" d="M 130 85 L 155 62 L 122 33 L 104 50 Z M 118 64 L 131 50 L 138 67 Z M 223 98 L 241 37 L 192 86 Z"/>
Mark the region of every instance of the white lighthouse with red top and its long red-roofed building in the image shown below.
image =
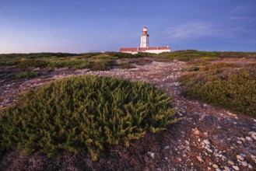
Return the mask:
<path id="1" fill-rule="evenodd" d="M 153 54 L 160 54 L 162 52 L 170 52 L 170 47 L 149 47 L 148 29 L 144 26 L 142 35 L 140 36 L 140 47 L 124 47 L 120 48 L 120 52 L 129 54 L 138 54 L 138 52 L 148 52 Z"/>

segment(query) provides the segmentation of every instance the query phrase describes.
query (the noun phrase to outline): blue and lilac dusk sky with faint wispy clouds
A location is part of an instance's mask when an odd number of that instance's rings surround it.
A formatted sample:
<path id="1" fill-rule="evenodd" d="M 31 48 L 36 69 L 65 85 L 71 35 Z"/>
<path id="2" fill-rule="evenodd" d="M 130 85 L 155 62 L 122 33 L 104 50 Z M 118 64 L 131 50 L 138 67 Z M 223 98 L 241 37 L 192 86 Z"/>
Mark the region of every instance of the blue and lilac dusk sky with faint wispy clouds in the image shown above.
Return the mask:
<path id="1" fill-rule="evenodd" d="M 1 0 L 0 54 L 119 51 L 256 51 L 255 0 Z"/>

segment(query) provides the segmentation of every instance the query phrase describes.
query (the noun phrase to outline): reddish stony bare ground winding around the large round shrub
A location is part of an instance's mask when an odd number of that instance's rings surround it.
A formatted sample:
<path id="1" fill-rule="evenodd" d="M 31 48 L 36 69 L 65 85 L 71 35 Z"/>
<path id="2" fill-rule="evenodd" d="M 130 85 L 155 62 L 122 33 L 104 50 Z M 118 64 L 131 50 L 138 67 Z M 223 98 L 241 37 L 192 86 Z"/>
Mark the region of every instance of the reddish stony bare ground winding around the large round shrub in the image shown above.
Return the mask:
<path id="1" fill-rule="evenodd" d="M 138 61 L 142 61 L 138 63 Z M 233 62 L 233 60 L 226 60 Z M 0 109 L 15 103 L 19 92 L 70 75 L 108 75 L 129 80 L 143 80 L 174 95 L 178 123 L 166 131 L 148 133 L 128 148 L 109 147 L 97 162 L 85 152 L 74 155 L 62 152 L 53 159 L 45 155 L 9 152 L 0 156 L 0 170 L 252 170 L 256 168 L 256 120 L 231 113 L 181 96 L 177 79 L 188 67 L 182 61 L 159 61 L 153 58 L 126 59 L 135 68 L 114 68 L 107 72 L 87 69 L 36 69 L 36 79 L 14 79 L 17 68 L 0 68 Z M 136 65 L 137 62 L 137 65 Z M 241 62 L 241 61 L 237 61 Z M 138 65 L 143 64 L 143 65 Z"/>

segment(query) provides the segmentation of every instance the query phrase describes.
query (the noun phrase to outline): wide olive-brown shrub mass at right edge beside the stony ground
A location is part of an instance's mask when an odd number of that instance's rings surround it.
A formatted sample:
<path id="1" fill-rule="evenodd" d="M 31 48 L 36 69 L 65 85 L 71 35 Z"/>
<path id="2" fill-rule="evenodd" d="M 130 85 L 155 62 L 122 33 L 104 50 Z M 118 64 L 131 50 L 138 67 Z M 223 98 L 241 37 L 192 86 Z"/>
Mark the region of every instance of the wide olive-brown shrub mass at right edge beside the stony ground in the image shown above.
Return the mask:
<path id="1" fill-rule="evenodd" d="M 184 96 L 256 117 L 256 64 L 216 63 L 180 79 Z"/>

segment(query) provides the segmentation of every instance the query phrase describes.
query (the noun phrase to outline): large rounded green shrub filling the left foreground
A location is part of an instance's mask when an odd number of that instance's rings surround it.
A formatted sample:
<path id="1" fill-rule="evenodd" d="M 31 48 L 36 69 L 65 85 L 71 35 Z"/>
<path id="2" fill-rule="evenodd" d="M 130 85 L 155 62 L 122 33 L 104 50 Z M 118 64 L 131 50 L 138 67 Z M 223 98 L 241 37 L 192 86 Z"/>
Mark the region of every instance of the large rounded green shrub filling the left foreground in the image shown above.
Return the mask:
<path id="1" fill-rule="evenodd" d="M 145 82 L 99 76 L 54 81 L 1 111 L 0 152 L 86 150 L 96 160 L 107 145 L 129 145 L 177 121 L 171 99 Z"/>

